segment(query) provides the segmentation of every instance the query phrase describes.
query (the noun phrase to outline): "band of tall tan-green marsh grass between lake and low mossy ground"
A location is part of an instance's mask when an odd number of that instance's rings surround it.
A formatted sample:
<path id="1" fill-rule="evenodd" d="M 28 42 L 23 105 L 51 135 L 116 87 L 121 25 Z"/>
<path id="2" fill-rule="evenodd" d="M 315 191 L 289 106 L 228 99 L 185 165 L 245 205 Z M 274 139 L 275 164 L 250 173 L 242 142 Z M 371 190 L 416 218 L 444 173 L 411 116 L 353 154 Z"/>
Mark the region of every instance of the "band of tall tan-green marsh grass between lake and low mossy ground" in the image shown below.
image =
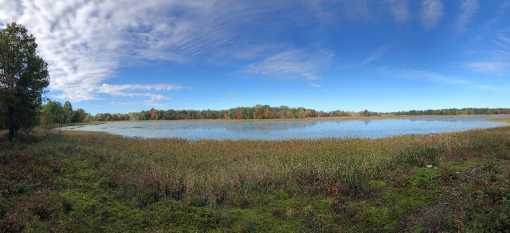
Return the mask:
<path id="1" fill-rule="evenodd" d="M 163 197 L 198 206 L 236 204 L 277 189 L 314 195 L 335 188 L 357 195 L 369 180 L 393 181 L 406 167 L 439 166 L 443 160 L 483 157 L 495 147 L 510 146 L 508 126 L 374 140 L 186 141 L 68 134 L 73 137 L 54 143 L 65 140 L 62 149 L 96 158 L 108 185 L 141 205 Z"/>

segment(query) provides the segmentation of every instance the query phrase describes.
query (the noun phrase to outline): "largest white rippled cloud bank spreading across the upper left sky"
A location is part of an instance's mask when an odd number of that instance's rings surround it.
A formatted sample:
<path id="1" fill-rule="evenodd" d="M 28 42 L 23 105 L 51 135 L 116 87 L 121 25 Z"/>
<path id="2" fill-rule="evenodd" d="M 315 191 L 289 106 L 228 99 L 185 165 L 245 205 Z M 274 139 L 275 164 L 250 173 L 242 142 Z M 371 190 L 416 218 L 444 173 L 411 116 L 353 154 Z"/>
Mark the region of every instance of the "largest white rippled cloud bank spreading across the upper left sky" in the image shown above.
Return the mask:
<path id="1" fill-rule="evenodd" d="M 20 0 L 0 6 L 1 23 L 15 20 L 36 37 L 38 54 L 48 62 L 49 89 L 60 92 L 53 96 L 71 101 L 98 99 L 105 89 L 100 85 L 120 67 L 184 63 L 223 49 L 238 27 L 233 22 L 242 21 L 231 17 L 244 10 L 244 4 L 199 0 Z"/>

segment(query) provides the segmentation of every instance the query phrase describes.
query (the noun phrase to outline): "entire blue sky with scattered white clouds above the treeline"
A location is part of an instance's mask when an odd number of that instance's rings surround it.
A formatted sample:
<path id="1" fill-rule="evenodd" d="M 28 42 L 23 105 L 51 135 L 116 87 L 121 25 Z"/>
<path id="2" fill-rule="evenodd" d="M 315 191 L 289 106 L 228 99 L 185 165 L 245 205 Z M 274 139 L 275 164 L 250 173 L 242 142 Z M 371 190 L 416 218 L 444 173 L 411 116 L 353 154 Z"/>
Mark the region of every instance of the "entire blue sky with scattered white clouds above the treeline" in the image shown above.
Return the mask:
<path id="1" fill-rule="evenodd" d="M 96 113 L 509 108 L 510 1 L 0 0 Z"/>

